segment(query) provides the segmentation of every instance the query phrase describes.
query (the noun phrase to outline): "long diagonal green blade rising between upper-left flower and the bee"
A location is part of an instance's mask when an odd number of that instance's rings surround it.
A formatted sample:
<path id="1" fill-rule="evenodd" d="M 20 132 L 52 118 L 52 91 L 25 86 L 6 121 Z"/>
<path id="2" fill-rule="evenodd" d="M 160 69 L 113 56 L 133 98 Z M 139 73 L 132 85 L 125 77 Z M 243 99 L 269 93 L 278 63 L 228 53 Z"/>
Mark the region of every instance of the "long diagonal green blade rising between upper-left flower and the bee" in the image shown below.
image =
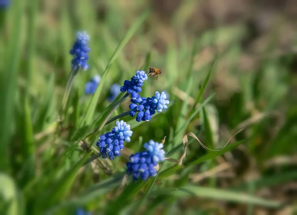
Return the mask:
<path id="1" fill-rule="evenodd" d="M 141 15 L 129 28 L 123 39 L 120 41 L 116 49 L 114 50 L 112 56 L 110 57 L 108 64 L 106 68 L 104 69 L 102 78 L 101 78 L 101 83 L 104 83 L 105 80 L 107 79 L 107 75 L 110 69 L 111 64 L 113 61 L 117 58 L 118 54 L 120 51 L 123 49 L 123 47 L 129 42 L 129 40 L 133 37 L 133 35 L 136 33 L 137 29 L 142 25 L 142 23 L 148 18 L 149 11 L 145 12 L 143 15 Z M 92 96 L 92 99 L 89 103 L 89 106 L 85 112 L 85 116 L 83 117 L 83 125 L 90 125 L 93 116 L 95 113 L 95 108 L 99 99 L 99 96 L 101 94 L 103 85 L 99 85 L 96 89 L 96 92 Z"/>

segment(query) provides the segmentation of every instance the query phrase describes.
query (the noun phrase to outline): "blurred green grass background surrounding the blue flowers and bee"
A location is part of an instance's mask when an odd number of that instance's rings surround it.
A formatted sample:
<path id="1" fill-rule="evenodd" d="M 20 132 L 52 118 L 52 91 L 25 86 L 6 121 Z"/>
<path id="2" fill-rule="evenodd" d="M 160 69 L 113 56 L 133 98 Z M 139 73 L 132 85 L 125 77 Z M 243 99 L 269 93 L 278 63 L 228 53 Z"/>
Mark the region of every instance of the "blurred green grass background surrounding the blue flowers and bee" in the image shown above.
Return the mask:
<path id="1" fill-rule="evenodd" d="M 11 0 L 0 8 L 1 214 L 289 215 L 297 202 L 295 0 Z M 58 120 L 75 33 L 90 35 L 90 69 L 74 80 Z M 98 154 L 109 87 L 140 68 L 142 96 L 170 107 L 131 125 L 114 161 Z M 84 85 L 102 77 L 93 96 Z M 121 94 L 123 95 L 123 94 Z M 129 110 L 124 101 L 111 115 Z M 253 125 L 247 127 L 250 123 Z M 246 128 L 247 127 L 247 128 Z M 124 176 L 132 153 L 164 136 L 168 161 L 146 182 Z M 93 154 L 94 156 L 94 154 Z M 86 162 L 86 163 L 85 163 Z"/>

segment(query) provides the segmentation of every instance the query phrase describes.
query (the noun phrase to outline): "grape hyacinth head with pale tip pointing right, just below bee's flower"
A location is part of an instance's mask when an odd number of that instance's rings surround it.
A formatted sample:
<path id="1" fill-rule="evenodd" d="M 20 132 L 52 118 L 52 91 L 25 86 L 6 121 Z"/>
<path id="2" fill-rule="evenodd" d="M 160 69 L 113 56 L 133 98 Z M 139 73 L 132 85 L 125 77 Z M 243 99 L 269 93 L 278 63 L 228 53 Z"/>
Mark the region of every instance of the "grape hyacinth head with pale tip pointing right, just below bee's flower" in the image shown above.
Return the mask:
<path id="1" fill-rule="evenodd" d="M 131 94 L 131 102 L 129 108 L 130 116 L 134 117 L 136 115 L 136 121 L 149 121 L 154 115 L 155 111 L 162 112 L 162 110 L 167 109 L 167 104 L 169 104 L 169 100 L 166 100 L 165 92 L 161 92 L 161 94 L 156 91 L 155 96 L 151 98 L 141 97 L 138 93 L 132 92 Z"/>

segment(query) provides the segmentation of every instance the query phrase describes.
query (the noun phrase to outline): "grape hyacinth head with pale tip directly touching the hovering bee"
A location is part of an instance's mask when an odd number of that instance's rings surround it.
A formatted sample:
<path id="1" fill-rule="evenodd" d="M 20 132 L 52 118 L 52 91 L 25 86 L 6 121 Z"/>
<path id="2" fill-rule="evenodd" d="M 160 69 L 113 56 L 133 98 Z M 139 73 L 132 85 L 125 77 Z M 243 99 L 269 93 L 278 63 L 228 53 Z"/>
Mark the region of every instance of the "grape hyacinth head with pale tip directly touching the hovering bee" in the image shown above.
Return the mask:
<path id="1" fill-rule="evenodd" d="M 148 76 L 145 71 L 137 71 L 136 75 L 131 78 L 131 81 L 126 80 L 124 86 L 121 87 L 122 92 L 132 93 L 141 92 L 141 87 L 144 85 L 144 82 L 148 79 Z"/>

